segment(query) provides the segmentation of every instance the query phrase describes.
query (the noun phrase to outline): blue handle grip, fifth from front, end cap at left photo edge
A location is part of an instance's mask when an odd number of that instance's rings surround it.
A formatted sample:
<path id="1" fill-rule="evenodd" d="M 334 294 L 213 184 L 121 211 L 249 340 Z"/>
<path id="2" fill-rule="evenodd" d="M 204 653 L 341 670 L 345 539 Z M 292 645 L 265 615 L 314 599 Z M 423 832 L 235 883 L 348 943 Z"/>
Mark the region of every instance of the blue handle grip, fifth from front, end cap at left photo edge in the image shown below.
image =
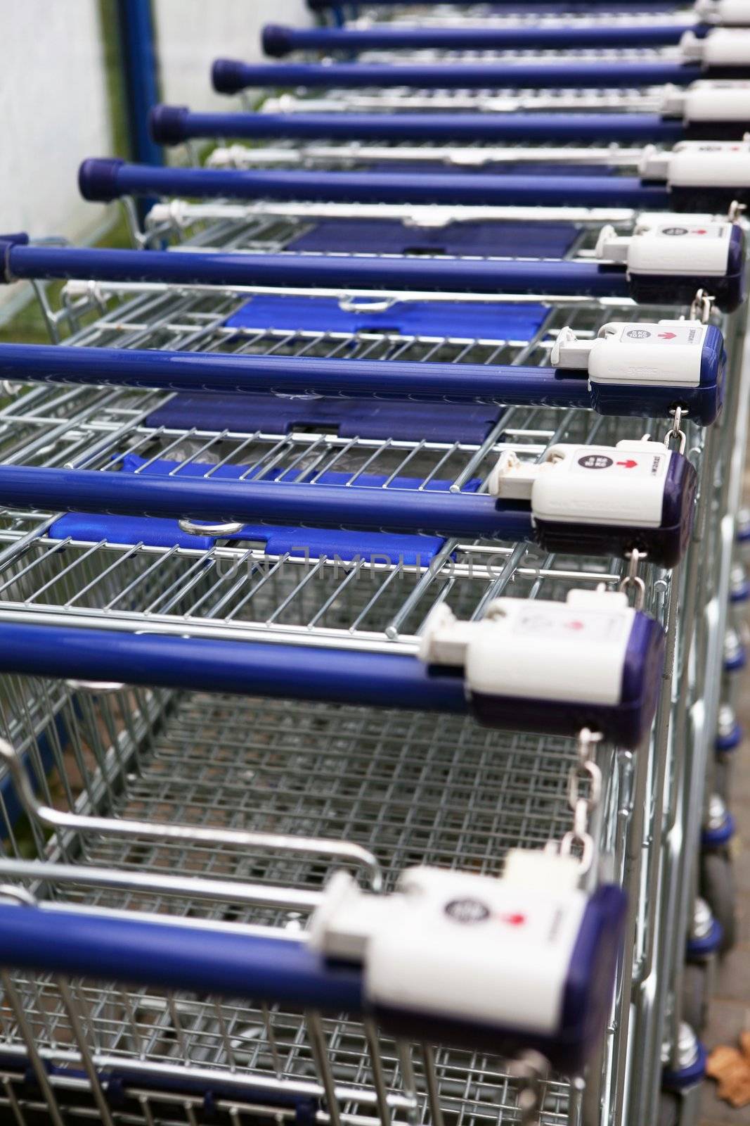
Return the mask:
<path id="1" fill-rule="evenodd" d="M 629 293 L 626 275 L 622 269 L 590 262 L 548 262 L 543 259 L 177 253 L 166 250 L 13 245 L 6 257 L 6 282 L 79 278 L 182 285 L 387 287 L 409 292 L 432 289 L 571 296 L 624 296 Z"/>

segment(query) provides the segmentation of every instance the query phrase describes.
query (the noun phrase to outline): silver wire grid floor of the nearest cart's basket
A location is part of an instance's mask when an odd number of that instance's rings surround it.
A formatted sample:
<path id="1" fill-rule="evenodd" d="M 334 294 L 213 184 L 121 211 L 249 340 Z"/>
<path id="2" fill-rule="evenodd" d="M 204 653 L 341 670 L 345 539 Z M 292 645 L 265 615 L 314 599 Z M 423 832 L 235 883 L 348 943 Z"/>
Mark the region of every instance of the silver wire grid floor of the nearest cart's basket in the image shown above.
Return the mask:
<path id="1" fill-rule="evenodd" d="M 76 730 L 85 739 L 80 721 Z M 453 717 L 436 723 L 421 713 L 269 706 L 265 700 L 178 694 L 147 743 L 132 760 L 112 760 L 117 765 L 106 789 L 84 790 L 76 807 L 85 810 L 96 802 L 105 815 L 261 832 L 335 831 L 336 837 L 373 847 L 389 884 L 403 867 L 418 863 L 497 873 L 507 848 L 539 847 L 567 828 L 566 776 L 575 754 L 570 740 L 508 736 Z M 618 778 L 613 771 L 613 803 L 622 797 Z M 180 872 L 292 887 L 319 887 L 327 872 L 325 864 L 309 859 L 205 846 L 175 849 L 98 835 L 56 837 L 47 852 L 132 872 L 136 884 L 143 868 L 150 874 Z M 272 918 L 268 911 L 236 904 L 210 909 L 199 901 L 147 892 L 124 897 L 96 887 L 66 885 L 61 891 L 64 899 L 91 908 L 272 922 L 292 932 L 300 926 L 295 912 Z M 48 894 L 54 896 L 55 888 Z M 52 1058 L 72 1058 L 70 1015 L 54 982 L 27 976 L 16 981 L 38 1046 Z M 147 1058 L 165 1082 L 184 1080 L 193 1069 L 226 1070 L 240 1089 L 243 1082 L 252 1085 L 253 1073 L 288 1081 L 315 1079 L 304 1025 L 293 1011 L 217 1006 L 210 999 L 164 998 L 150 990 L 126 995 L 89 984 L 76 985 L 74 995 L 102 1066 L 105 1060 L 116 1070 Z M 18 1033 L 7 1013 L 3 1017 L 4 1052 L 17 1047 Z M 345 1020 L 325 1020 L 324 1027 L 336 1083 L 352 1088 L 342 1119 L 362 1120 L 371 1094 L 365 1090 L 356 1097 L 358 1087 L 371 1085 L 362 1031 Z M 380 1055 L 389 1088 L 401 1093 L 394 1118 L 415 1120 L 416 1109 L 416 1120 L 428 1120 L 422 1097 L 409 1111 L 400 1057 L 388 1039 L 381 1040 Z M 487 1056 L 441 1049 L 435 1066 L 446 1123 L 518 1120 L 516 1089 Z M 567 1084 L 550 1081 L 545 1124 L 566 1120 L 567 1099 Z"/>

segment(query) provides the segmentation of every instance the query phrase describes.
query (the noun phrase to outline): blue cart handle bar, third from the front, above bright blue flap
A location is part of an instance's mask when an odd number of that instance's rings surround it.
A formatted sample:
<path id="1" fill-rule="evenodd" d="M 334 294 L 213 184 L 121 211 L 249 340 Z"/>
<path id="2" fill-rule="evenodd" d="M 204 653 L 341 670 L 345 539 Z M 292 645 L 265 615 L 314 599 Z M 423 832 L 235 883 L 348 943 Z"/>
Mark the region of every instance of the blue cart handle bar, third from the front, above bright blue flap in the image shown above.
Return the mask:
<path id="1" fill-rule="evenodd" d="M 173 520 L 220 519 L 242 525 L 430 533 L 472 539 L 481 536 L 516 540 L 533 534 L 528 509 L 503 509 L 485 493 L 157 477 L 16 465 L 0 465 L 0 504 Z"/>

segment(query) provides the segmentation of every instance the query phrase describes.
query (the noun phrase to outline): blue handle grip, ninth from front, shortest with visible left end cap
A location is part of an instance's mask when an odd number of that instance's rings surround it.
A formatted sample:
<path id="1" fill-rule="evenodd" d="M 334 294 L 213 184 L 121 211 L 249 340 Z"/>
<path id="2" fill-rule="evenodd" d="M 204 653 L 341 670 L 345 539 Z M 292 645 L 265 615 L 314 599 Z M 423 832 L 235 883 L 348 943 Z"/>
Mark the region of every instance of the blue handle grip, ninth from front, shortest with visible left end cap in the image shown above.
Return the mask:
<path id="1" fill-rule="evenodd" d="M 560 51 L 591 47 L 656 47 L 679 43 L 686 32 L 703 36 L 707 24 L 665 23 L 599 24 L 560 27 L 501 27 L 481 24 L 469 27 L 418 27 L 376 24 L 367 28 L 281 27 L 263 28 L 266 55 L 282 59 L 295 51 Z"/>

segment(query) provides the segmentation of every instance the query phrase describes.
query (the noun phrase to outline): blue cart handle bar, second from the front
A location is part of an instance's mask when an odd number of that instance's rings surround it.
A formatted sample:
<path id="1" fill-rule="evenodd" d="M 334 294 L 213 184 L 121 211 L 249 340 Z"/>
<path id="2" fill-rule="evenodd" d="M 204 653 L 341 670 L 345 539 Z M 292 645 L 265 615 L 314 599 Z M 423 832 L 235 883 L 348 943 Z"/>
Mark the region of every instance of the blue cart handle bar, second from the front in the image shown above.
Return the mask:
<path id="1" fill-rule="evenodd" d="M 146 623 L 137 633 L 132 626 L 37 625 L 3 615 L 0 671 L 457 715 L 469 709 L 462 677 L 433 674 L 408 653 L 170 636 L 144 633 Z"/>

